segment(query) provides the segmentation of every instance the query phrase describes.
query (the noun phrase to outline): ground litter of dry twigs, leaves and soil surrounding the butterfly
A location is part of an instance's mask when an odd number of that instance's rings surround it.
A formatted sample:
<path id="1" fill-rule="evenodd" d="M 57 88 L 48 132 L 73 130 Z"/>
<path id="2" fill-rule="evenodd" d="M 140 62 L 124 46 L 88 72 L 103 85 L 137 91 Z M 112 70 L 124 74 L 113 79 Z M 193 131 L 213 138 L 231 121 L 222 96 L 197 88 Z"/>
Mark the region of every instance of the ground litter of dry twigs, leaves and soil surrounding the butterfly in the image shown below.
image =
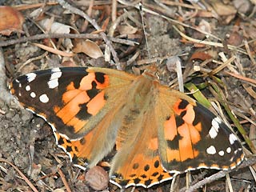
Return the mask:
<path id="1" fill-rule="evenodd" d="M 120 190 L 108 183 L 104 170 L 86 174 L 70 165 L 49 126 L 6 94 L 12 78 L 59 66 L 140 74 L 153 62 L 158 62 L 162 83 L 178 89 L 182 75 L 185 92 L 218 110 L 242 140 L 247 161 L 226 178 L 214 170 L 191 171 L 150 190 L 170 191 L 170 185 L 176 191 L 201 191 L 202 186 L 204 191 L 256 190 L 256 2 L 68 2 L 0 4 L 0 190 Z M 182 74 L 170 63 L 173 56 L 182 61 Z M 146 191 L 126 191 L 131 190 Z"/>

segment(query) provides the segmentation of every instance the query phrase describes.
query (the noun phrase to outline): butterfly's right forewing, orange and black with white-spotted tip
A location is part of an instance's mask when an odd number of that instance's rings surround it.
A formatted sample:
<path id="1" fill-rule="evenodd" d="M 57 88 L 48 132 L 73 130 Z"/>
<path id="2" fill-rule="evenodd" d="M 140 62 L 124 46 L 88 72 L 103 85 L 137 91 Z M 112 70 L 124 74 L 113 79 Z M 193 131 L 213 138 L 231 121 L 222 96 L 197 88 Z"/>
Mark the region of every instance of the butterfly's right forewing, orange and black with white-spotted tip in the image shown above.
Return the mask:
<path id="1" fill-rule="evenodd" d="M 175 90 L 159 88 L 159 154 L 169 172 L 199 168 L 233 169 L 244 154 L 224 122 L 198 102 Z"/>

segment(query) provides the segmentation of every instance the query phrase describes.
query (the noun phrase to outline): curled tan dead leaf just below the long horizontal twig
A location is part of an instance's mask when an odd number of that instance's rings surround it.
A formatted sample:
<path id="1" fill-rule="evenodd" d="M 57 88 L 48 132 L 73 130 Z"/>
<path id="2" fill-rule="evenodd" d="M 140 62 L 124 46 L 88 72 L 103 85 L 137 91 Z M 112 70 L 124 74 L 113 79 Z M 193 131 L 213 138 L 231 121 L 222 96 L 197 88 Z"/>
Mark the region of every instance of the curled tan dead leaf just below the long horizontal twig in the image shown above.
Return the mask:
<path id="1" fill-rule="evenodd" d="M 102 50 L 95 43 L 86 39 L 86 41 L 81 40 L 76 43 L 73 49 L 74 53 L 84 53 L 87 54 L 90 58 L 100 58 L 103 57 Z"/>

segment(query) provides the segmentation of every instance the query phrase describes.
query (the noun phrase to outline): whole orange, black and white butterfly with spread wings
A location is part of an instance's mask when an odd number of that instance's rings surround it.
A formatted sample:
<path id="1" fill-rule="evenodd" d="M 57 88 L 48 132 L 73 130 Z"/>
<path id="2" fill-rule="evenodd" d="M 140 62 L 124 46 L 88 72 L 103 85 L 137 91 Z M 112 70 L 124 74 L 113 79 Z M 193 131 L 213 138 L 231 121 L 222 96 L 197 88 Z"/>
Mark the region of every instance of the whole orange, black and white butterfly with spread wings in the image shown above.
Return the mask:
<path id="1" fill-rule="evenodd" d="M 148 188 L 200 168 L 230 170 L 244 158 L 221 118 L 147 70 L 39 70 L 14 79 L 10 90 L 48 122 L 74 164 L 83 158 L 92 167 L 116 150 L 109 174 L 119 187 Z"/>

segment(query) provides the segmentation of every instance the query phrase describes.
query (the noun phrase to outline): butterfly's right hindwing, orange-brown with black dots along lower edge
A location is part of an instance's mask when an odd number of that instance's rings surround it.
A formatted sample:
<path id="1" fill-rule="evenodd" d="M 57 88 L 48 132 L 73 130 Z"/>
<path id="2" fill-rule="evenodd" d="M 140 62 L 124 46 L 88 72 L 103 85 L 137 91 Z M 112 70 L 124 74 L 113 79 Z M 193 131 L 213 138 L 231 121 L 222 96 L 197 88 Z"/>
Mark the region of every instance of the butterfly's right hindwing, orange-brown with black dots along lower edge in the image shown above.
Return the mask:
<path id="1" fill-rule="evenodd" d="M 120 128 L 118 136 L 126 139 L 111 162 L 110 182 L 120 187 L 148 188 L 172 178 L 161 166 L 155 118 L 154 110 L 142 109 L 134 122 L 130 120 Z M 122 132 L 126 127 L 129 131 Z"/>

